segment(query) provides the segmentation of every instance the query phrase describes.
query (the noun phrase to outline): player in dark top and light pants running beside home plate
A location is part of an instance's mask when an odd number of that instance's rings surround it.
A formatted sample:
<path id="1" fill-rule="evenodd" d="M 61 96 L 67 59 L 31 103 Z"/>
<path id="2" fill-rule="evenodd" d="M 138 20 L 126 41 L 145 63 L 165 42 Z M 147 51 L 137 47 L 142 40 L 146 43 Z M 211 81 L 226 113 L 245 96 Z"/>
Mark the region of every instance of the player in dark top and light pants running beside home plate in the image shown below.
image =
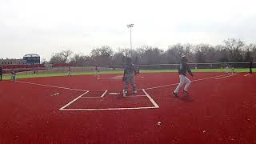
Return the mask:
<path id="1" fill-rule="evenodd" d="M 178 84 L 177 88 L 173 92 L 173 95 L 174 95 L 175 98 L 178 97 L 178 90 L 180 90 L 184 84 L 186 84 L 186 86 L 185 86 L 183 92 L 185 94 L 188 94 L 188 89 L 190 87 L 191 81 L 190 81 L 189 78 L 186 78 L 186 72 L 188 72 L 191 75 L 191 77 L 193 77 L 193 74 L 192 74 L 192 72 L 190 70 L 190 67 L 187 64 L 186 56 L 182 56 L 182 64 L 181 64 L 181 66 L 178 69 L 179 84 Z"/>

